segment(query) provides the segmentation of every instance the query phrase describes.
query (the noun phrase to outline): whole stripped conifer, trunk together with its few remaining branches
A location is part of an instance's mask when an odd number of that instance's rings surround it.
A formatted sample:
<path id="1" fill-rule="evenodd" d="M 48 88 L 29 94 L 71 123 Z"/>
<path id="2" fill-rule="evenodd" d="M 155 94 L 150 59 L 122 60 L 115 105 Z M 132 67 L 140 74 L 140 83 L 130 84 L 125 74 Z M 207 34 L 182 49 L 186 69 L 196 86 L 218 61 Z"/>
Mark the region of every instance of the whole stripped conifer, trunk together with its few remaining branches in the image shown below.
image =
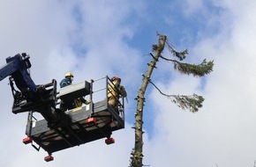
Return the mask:
<path id="1" fill-rule="evenodd" d="M 153 54 L 152 61 L 148 63 L 148 69 L 146 75 L 143 75 L 143 81 L 139 88 L 139 93 L 137 95 L 137 111 L 135 113 L 135 143 L 134 148 L 132 149 L 131 153 L 131 167 L 142 167 L 143 163 L 143 106 L 145 103 L 145 92 L 147 90 L 147 84 L 153 84 L 154 87 L 163 95 L 171 99 L 171 101 L 175 104 L 177 104 L 182 109 L 189 109 L 192 113 L 198 112 L 199 108 L 202 107 L 202 102 L 204 101 L 204 98 L 193 94 L 191 96 L 184 96 L 184 95 L 167 95 L 163 93 L 152 81 L 151 81 L 151 75 L 153 72 L 153 69 L 156 67 L 156 62 L 159 61 L 159 59 L 162 59 L 167 62 L 173 62 L 174 69 L 177 69 L 179 72 L 186 74 L 186 75 L 192 75 L 192 76 L 205 76 L 209 74 L 213 70 L 214 62 L 210 61 L 207 62 L 206 60 L 203 60 L 199 65 L 195 64 L 189 64 L 181 62 L 185 59 L 186 54 L 188 54 L 187 49 L 183 52 L 177 52 L 174 47 L 169 43 L 169 40 L 167 39 L 166 35 L 162 35 L 157 33 L 158 35 L 158 44 L 153 45 Z M 170 54 L 172 54 L 177 60 L 167 59 L 162 56 L 162 51 L 164 47 L 167 46 L 169 49 Z"/>

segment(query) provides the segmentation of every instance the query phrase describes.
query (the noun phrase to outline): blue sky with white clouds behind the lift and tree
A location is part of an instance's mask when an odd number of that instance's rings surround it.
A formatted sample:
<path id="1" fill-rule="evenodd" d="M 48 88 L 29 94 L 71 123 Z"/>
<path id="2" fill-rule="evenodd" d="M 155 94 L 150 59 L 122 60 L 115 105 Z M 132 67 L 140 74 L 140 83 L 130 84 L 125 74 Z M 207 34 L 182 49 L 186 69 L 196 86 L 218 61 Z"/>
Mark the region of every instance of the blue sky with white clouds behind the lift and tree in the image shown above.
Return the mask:
<path id="1" fill-rule="evenodd" d="M 26 113 L 11 113 L 8 79 L 0 83 L 2 127 L 0 166 L 128 166 L 134 145 L 136 93 L 147 70 L 156 32 L 185 62 L 214 60 L 204 78 L 178 74 L 160 61 L 152 76 L 167 94 L 206 98 L 198 113 L 183 111 L 151 85 L 145 106 L 144 164 L 150 166 L 253 167 L 256 160 L 256 2 L 255 0 L 10 0 L 0 2 L 0 66 L 5 58 L 30 54 L 35 84 L 72 71 L 75 83 L 120 76 L 128 92 L 126 127 L 116 143 L 90 142 L 54 153 L 22 143 Z M 168 50 L 164 56 L 169 57 Z M 169 57 L 171 58 L 171 57 Z"/>

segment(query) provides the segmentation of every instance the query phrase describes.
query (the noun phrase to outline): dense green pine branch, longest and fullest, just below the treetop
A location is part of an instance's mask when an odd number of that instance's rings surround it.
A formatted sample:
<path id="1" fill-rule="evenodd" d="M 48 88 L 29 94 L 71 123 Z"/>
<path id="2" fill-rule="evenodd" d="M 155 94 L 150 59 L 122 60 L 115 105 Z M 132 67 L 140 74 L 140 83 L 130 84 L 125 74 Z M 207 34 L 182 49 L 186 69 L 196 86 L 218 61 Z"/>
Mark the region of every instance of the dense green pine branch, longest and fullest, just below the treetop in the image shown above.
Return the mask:
<path id="1" fill-rule="evenodd" d="M 174 69 L 177 69 L 178 71 L 186 75 L 200 76 L 200 77 L 205 76 L 209 74 L 211 71 L 213 71 L 213 67 L 214 67 L 214 61 L 207 62 L 206 59 L 204 59 L 203 62 L 201 62 L 199 65 L 196 65 L 196 64 L 189 64 L 184 62 L 178 62 L 172 59 L 167 59 L 162 55 L 160 57 L 165 61 L 173 62 Z"/>

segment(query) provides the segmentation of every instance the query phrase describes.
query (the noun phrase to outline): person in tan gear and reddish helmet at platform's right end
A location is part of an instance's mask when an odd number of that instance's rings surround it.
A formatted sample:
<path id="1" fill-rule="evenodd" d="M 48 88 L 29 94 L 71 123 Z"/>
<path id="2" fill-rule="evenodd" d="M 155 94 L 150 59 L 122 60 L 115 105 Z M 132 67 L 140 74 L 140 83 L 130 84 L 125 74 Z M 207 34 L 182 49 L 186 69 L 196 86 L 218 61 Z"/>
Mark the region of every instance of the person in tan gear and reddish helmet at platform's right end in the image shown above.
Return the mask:
<path id="1" fill-rule="evenodd" d="M 121 85 L 121 78 L 113 76 L 111 78 L 111 84 L 108 87 L 108 102 L 118 112 L 118 103 L 120 96 L 126 97 L 127 93 L 124 86 Z"/>

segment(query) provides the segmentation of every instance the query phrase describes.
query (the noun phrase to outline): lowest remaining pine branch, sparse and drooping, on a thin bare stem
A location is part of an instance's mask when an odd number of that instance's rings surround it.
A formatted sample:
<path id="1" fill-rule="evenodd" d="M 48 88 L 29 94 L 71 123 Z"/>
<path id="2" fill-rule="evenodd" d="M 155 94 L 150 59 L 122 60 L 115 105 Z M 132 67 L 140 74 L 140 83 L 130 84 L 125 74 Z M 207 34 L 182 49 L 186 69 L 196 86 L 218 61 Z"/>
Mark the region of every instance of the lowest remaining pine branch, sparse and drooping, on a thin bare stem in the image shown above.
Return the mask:
<path id="1" fill-rule="evenodd" d="M 149 81 L 150 84 L 153 84 Z M 193 94 L 191 96 L 184 96 L 184 95 L 167 95 L 163 93 L 155 84 L 154 88 L 159 91 L 163 96 L 171 99 L 171 102 L 177 104 L 178 107 L 182 109 L 189 109 L 190 112 L 195 113 L 199 111 L 199 108 L 202 107 L 202 103 L 204 98 L 197 94 Z"/>

